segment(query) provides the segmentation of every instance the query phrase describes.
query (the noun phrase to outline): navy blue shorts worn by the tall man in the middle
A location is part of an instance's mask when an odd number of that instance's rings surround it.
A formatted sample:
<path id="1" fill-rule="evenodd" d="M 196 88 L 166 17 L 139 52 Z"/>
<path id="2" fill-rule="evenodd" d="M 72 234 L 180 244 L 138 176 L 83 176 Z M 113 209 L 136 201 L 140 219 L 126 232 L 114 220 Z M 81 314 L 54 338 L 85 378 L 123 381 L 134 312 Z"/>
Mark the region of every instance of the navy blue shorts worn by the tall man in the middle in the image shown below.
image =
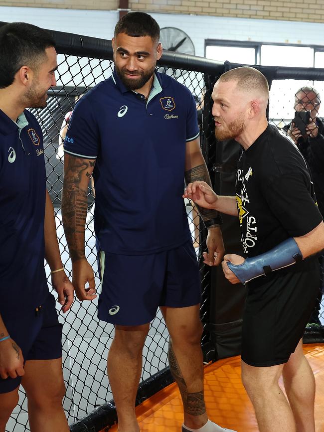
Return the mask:
<path id="1" fill-rule="evenodd" d="M 98 318 L 117 325 L 142 325 L 159 306 L 200 303 L 199 266 L 192 242 L 152 255 L 100 252 Z"/>

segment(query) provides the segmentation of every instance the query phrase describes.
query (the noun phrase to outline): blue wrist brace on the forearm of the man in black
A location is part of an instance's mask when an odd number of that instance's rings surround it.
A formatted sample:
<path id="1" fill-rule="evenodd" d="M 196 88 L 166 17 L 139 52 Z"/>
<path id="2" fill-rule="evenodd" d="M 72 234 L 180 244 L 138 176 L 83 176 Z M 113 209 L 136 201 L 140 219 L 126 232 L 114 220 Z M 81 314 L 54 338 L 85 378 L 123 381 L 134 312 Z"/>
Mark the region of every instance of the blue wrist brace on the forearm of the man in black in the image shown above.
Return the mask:
<path id="1" fill-rule="evenodd" d="M 243 264 L 236 266 L 228 261 L 227 265 L 242 284 L 245 284 L 251 281 L 251 279 L 268 275 L 274 270 L 291 266 L 302 260 L 303 255 L 297 243 L 291 237 L 271 249 L 271 251 L 256 257 L 247 258 Z"/>

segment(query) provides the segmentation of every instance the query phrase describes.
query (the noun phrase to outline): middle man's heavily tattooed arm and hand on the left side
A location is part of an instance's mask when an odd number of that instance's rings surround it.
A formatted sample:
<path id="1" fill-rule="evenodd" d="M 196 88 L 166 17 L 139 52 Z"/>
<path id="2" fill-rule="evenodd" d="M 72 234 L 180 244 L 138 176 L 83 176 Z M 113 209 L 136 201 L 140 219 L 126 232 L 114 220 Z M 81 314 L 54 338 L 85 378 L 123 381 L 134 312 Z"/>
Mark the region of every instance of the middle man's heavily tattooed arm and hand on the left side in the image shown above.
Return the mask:
<path id="1" fill-rule="evenodd" d="M 93 270 L 84 251 L 88 183 L 94 166 L 94 159 L 64 154 L 62 218 L 72 261 L 72 284 L 79 300 L 93 300 L 97 297 Z M 87 283 L 89 288 L 86 288 Z"/>

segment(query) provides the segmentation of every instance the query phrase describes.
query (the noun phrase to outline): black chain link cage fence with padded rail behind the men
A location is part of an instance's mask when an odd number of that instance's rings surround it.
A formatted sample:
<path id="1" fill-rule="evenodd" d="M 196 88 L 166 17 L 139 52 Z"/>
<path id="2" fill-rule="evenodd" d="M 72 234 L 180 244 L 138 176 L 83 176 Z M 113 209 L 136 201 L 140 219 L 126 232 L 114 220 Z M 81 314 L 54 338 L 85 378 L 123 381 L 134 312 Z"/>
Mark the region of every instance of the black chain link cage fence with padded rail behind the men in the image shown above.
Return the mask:
<path id="1" fill-rule="evenodd" d="M 0 23 L 0 25 L 3 23 Z M 31 111 L 36 116 L 43 132 L 46 162 L 47 188 L 54 204 L 55 219 L 62 262 L 71 275 L 71 262 L 63 232 L 61 217 L 61 189 L 63 184 L 62 142 L 66 124 L 78 99 L 91 87 L 107 79 L 113 72 L 111 41 L 78 36 L 69 33 L 51 32 L 57 41 L 58 70 L 57 86 L 48 92 L 48 104 L 43 110 Z M 198 123 L 200 127 L 202 151 L 211 178 L 215 178 L 217 144 L 214 138 L 213 118 L 211 117 L 211 89 L 218 76 L 225 70 L 240 65 L 225 64 L 208 59 L 165 52 L 158 64 L 158 70 L 174 77 L 190 89 L 196 99 Z M 309 85 L 318 80 L 323 87 L 324 70 L 297 68 L 258 67 L 268 78 L 271 86 L 269 107 L 270 122 L 278 127 L 289 125 L 294 118 L 294 92 L 305 82 Z M 324 138 L 323 138 L 324 140 Z M 215 185 L 217 189 L 217 185 Z M 100 284 L 97 269 L 93 209 L 95 190 L 90 182 L 88 190 L 88 216 L 86 220 L 86 257 L 93 266 L 96 286 Z M 202 338 L 203 347 L 208 346 L 208 320 L 210 314 L 210 274 L 202 264 L 201 255 L 206 250 L 206 231 L 201 226 L 196 208 L 190 201 L 185 202 L 192 241 L 200 262 L 202 302 L 201 318 L 205 323 Z M 166 215 L 167 217 L 167 215 Z M 239 241 L 239 239 L 238 239 Z M 48 284 L 49 268 L 46 265 Z M 319 287 L 319 295 L 322 288 Z M 55 295 L 55 292 L 54 292 Z M 322 299 L 322 294 L 321 294 Z M 324 323 L 324 307 L 318 303 L 319 319 Z M 71 431 L 108 430 L 116 420 L 110 385 L 106 375 L 106 359 L 114 335 L 113 325 L 97 319 L 97 300 L 80 302 L 75 299 L 71 310 L 62 315 L 63 323 L 63 373 L 66 394 L 63 400 Z M 215 307 L 215 306 L 212 306 Z M 313 331 L 313 330 L 312 330 Z M 314 336 L 314 333 L 313 333 Z M 316 333 L 317 341 L 324 341 L 323 334 Z M 172 377 L 167 367 L 168 333 L 162 315 L 157 314 L 151 325 L 144 348 L 141 384 L 137 404 L 171 383 Z M 206 358 L 206 350 L 204 352 Z M 217 356 L 211 358 L 216 360 Z M 210 356 L 208 357 L 210 360 Z M 111 401 L 108 402 L 107 401 Z M 89 413 L 92 413 L 89 415 Z M 81 420 L 80 420 L 81 419 Z M 19 390 L 19 403 L 14 410 L 6 432 L 29 431 L 26 396 Z"/>

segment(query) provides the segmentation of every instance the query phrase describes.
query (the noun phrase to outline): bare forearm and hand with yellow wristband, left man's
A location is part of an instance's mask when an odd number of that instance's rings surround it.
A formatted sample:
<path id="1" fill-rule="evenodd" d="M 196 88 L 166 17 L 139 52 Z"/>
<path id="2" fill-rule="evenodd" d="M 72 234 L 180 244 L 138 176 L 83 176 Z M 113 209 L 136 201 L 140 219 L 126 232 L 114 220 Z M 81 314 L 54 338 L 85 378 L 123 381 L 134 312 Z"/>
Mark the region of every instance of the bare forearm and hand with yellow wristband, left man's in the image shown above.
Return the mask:
<path id="1" fill-rule="evenodd" d="M 46 206 L 45 206 L 45 221 L 44 221 L 44 236 L 45 236 L 45 258 L 51 269 L 55 271 L 63 268 L 61 254 L 57 243 L 56 226 L 54 218 L 54 208 L 46 190 Z M 65 271 L 62 270 L 51 274 L 52 286 L 58 293 L 58 302 L 62 305 L 63 313 L 69 310 L 73 302 L 73 286 L 67 278 Z"/>

